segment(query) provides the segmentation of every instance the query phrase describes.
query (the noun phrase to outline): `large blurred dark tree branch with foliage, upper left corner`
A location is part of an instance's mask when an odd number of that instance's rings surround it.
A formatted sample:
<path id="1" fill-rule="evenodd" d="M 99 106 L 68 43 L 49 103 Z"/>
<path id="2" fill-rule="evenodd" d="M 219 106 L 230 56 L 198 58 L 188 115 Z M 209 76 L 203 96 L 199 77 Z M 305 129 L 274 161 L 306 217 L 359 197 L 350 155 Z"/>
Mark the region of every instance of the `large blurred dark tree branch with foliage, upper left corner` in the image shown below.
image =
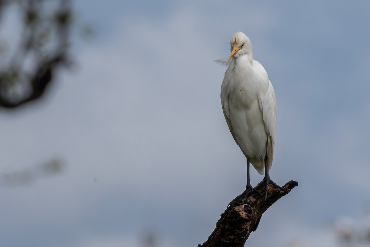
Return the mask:
<path id="1" fill-rule="evenodd" d="M 40 99 L 53 81 L 55 70 L 69 62 L 71 0 L 0 0 L 0 22 L 4 9 L 11 4 L 19 9 L 23 26 L 9 62 L 0 66 L 0 106 L 3 108 L 15 108 Z M 5 55 L 0 53 L 0 57 Z"/>

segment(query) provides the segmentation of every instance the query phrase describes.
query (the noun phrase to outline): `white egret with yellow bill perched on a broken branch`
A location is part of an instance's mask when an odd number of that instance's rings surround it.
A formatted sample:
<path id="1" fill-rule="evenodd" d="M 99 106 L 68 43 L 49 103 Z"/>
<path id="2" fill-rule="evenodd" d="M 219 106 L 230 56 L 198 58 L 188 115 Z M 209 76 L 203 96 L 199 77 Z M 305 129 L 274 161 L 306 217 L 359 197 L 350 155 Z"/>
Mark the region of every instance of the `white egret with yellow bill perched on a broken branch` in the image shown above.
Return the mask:
<path id="1" fill-rule="evenodd" d="M 275 145 L 275 92 L 265 68 L 253 60 L 249 38 L 242 32 L 235 33 L 230 45 L 228 69 L 221 86 L 223 114 L 247 159 L 246 193 L 252 190 L 249 177 L 249 163 L 252 163 L 261 175 L 265 169 L 262 182 L 266 182 L 267 197 L 268 184 L 273 183 L 269 170 Z M 225 60 L 217 61 L 226 63 Z"/>

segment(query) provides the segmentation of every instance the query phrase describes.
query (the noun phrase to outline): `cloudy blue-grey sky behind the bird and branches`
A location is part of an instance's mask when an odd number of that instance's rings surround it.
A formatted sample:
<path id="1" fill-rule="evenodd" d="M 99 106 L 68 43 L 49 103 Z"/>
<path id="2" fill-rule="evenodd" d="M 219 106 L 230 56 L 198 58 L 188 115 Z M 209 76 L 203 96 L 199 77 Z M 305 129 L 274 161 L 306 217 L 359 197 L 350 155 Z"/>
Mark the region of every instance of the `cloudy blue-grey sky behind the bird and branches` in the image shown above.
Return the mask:
<path id="1" fill-rule="evenodd" d="M 0 187 L 0 245 L 203 243 L 245 189 L 223 117 L 229 39 L 248 35 L 277 101 L 270 176 L 299 186 L 265 214 L 253 246 L 333 247 L 339 218 L 369 210 L 369 1 L 74 1 L 96 37 L 46 97 L 0 111 L 0 173 L 65 169 Z M 9 34 L 11 35 L 11 34 Z M 263 176 L 251 169 L 252 184 Z M 268 233 L 268 237 L 266 237 Z"/>

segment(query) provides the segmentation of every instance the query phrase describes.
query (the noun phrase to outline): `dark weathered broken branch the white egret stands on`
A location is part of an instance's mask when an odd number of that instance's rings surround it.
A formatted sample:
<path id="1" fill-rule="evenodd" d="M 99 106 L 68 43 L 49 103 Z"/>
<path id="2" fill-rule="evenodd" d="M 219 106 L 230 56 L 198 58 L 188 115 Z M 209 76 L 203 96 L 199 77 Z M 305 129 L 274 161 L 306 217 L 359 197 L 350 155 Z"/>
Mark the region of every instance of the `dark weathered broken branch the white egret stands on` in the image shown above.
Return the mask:
<path id="1" fill-rule="evenodd" d="M 258 227 L 262 214 L 277 200 L 285 196 L 298 183 L 289 181 L 283 189 L 273 184 L 268 186 L 267 199 L 260 194 L 265 194 L 266 183 L 255 187 L 256 191 L 249 193 L 248 197 L 240 196 L 231 202 L 221 219 L 216 223 L 216 229 L 203 243 L 202 247 L 243 247 L 252 231 Z M 259 194 L 259 193 L 260 194 Z"/>

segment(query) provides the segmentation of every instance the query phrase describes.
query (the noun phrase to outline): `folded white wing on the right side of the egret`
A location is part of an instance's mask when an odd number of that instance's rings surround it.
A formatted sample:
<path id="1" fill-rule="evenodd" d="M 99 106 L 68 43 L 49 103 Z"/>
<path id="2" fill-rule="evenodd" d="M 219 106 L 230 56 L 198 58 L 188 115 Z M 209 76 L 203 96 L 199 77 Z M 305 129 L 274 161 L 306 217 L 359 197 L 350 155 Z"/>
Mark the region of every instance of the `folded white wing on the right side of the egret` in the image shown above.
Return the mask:
<path id="1" fill-rule="evenodd" d="M 265 95 L 259 97 L 260 109 L 266 129 L 266 154 L 269 170 L 272 165 L 272 158 L 275 146 L 275 124 L 276 124 L 276 100 L 275 92 L 269 80 L 269 87 Z"/>

